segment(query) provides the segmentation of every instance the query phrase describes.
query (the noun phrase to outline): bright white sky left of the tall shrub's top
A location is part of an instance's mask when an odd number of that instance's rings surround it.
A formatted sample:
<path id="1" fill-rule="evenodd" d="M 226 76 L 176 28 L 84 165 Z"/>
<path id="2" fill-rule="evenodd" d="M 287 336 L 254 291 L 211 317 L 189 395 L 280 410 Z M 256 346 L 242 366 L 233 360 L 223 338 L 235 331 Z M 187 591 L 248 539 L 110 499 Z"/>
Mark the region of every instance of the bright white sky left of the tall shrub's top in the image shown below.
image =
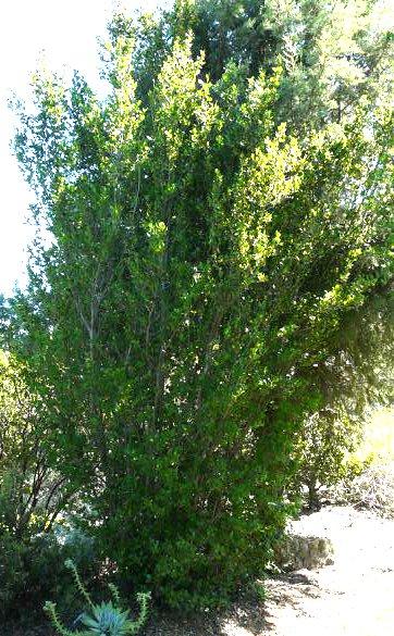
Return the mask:
<path id="1" fill-rule="evenodd" d="M 168 3 L 168 2 L 167 2 Z M 127 10 L 151 11 L 159 0 L 124 0 Z M 28 96 L 29 76 L 42 58 L 54 71 L 78 68 L 97 86 L 97 37 L 106 33 L 112 0 L 3 0 L 0 5 L 0 292 L 24 284 L 26 246 L 32 229 L 25 219 L 32 197 L 10 150 L 15 121 L 8 108 L 14 91 Z"/>

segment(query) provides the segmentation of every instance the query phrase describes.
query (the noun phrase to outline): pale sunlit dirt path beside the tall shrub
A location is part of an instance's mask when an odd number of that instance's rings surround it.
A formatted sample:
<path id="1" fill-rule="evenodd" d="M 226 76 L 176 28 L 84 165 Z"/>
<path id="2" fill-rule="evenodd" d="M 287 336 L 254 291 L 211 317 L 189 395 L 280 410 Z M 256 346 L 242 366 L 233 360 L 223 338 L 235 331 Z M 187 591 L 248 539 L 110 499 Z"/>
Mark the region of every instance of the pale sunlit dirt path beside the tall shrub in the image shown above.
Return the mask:
<path id="1" fill-rule="evenodd" d="M 268 581 L 261 629 L 232 619 L 222 634 L 394 635 L 394 521 L 333 507 L 295 522 L 294 529 L 330 537 L 334 564 Z"/>

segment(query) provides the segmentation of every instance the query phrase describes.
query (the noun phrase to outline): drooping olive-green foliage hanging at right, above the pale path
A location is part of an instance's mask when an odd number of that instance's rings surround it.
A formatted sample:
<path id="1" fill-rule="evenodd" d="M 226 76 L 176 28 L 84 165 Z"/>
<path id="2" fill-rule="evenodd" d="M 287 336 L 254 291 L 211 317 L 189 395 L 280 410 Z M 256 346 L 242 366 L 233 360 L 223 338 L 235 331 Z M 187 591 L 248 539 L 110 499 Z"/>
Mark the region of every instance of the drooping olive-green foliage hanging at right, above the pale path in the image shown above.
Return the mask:
<path id="1" fill-rule="evenodd" d="M 340 335 L 336 356 L 317 371 L 322 396 L 298 434 L 295 489 L 307 487 L 310 508 L 319 507 L 320 491 L 367 466 L 352 452 L 369 425 L 371 410 L 393 400 L 393 298 L 377 296 L 349 316 Z M 350 453 L 350 454 L 349 454 Z"/>

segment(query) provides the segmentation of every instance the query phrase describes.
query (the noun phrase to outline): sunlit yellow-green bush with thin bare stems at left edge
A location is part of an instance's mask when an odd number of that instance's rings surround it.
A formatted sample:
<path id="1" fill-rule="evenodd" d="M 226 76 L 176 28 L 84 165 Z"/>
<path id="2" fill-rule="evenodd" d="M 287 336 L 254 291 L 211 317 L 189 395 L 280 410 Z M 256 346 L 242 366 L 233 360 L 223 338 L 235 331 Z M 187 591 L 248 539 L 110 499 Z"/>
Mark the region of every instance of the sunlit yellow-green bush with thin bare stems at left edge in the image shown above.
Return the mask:
<path id="1" fill-rule="evenodd" d="M 0 352 L 0 536 L 49 532 L 70 499 L 50 465 L 34 399 L 13 357 Z M 62 488 L 63 487 L 63 488 Z"/>

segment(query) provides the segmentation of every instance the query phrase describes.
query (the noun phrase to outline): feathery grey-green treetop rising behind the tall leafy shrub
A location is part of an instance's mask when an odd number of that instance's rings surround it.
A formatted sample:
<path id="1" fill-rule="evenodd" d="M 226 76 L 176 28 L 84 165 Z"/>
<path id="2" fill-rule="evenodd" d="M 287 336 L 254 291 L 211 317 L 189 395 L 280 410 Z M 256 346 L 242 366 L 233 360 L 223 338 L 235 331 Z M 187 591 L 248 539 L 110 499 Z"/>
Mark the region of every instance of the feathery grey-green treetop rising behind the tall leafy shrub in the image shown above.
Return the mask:
<path id="1" fill-rule="evenodd" d="M 373 108 L 392 95 L 393 20 L 386 0 L 178 0 L 161 21 L 145 18 L 137 28 L 144 91 L 173 38 L 187 30 L 195 36 L 194 53 L 205 51 L 204 72 L 213 80 L 230 60 L 254 77 L 280 62 L 284 73 L 274 116 L 298 134 L 352 116 L 361 96 Z"/>

